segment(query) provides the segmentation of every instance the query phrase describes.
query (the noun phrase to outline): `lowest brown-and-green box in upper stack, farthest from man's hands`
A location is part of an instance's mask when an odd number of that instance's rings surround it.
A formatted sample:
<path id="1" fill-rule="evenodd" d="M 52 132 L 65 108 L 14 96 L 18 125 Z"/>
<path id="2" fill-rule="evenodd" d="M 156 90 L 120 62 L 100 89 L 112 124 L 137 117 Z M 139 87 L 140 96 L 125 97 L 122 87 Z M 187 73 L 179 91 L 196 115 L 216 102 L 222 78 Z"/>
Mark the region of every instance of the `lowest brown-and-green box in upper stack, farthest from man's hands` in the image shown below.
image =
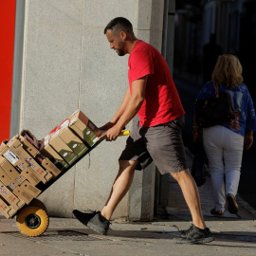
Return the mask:
<path id="1" fill-rule="evenodd" d="M 49 158 L 49 160 L 58 167 L 61 171 L 64 171 L 68 168 L 67 162 L 64 158 L 59 155 L 49 144 L 44 145 L 42 149 L 40 149 L 42 155 Z"/>

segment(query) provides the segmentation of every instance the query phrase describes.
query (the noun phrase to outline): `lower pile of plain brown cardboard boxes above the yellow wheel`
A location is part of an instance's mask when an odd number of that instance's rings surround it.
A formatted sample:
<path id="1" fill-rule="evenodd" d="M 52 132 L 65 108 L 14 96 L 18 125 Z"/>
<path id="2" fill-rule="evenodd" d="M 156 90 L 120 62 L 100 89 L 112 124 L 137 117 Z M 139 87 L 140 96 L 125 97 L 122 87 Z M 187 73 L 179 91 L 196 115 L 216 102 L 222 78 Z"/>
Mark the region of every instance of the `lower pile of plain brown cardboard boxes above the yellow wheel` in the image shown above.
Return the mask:
<path id="1" fill-rule="evenodd" d="M 0 146 L 0 210 L 7 218 L 36 198 L 56 174 L 53 164 L 54 169 L 44 168 L 34 158 L 33 153 L 40 152 L 23 135 L 27 133 L 23 131 Z"/>

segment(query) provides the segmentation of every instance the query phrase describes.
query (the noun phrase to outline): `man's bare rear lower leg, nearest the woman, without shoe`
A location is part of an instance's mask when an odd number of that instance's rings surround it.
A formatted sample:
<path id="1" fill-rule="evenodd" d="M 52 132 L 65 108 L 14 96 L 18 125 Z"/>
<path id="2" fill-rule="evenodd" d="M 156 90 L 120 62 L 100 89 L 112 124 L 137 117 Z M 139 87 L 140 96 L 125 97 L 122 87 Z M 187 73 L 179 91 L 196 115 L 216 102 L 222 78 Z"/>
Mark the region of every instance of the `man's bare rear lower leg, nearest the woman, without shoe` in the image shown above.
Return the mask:
<path id="1" fill-rule="evenodd" d="M 191 210 L 193 225 L 199 229 L 206 229 L 199 192 L 189 169 L 172 173 L 172 176 L 178 182 L 186 203 Z"/>

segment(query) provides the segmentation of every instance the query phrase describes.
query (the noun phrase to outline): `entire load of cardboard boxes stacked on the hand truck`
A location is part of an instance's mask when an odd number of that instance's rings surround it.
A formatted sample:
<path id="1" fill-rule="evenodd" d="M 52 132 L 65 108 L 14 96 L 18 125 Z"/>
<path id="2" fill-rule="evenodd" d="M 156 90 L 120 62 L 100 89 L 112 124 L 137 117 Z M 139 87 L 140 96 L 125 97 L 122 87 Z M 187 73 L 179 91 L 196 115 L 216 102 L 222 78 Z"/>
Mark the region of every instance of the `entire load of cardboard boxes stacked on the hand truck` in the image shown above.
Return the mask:
<path id="1" fill-rule="evenodd" d="M 11 218 L 95 145 L 101 130 L 77 110 L 46 137 L 28 130 L 0 146 L 0 211 Z"/>

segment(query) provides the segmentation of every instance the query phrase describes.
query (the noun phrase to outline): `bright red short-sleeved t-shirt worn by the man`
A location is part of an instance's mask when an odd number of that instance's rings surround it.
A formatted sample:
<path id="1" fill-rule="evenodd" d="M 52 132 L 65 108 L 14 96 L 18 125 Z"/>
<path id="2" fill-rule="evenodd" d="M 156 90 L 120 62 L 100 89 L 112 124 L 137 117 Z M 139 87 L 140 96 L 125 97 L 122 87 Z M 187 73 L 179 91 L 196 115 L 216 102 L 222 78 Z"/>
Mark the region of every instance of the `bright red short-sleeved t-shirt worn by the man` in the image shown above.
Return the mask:
<path id="1" fill-rule="evenodd" d="M 149 75 L 145 99 L 137 112 L 141 126 L 155 126 L 185 114 L 168 64 L 154 46 L 138 40 L 129 56 L 128 66 L 131 94 L 132 82 Z"/>

